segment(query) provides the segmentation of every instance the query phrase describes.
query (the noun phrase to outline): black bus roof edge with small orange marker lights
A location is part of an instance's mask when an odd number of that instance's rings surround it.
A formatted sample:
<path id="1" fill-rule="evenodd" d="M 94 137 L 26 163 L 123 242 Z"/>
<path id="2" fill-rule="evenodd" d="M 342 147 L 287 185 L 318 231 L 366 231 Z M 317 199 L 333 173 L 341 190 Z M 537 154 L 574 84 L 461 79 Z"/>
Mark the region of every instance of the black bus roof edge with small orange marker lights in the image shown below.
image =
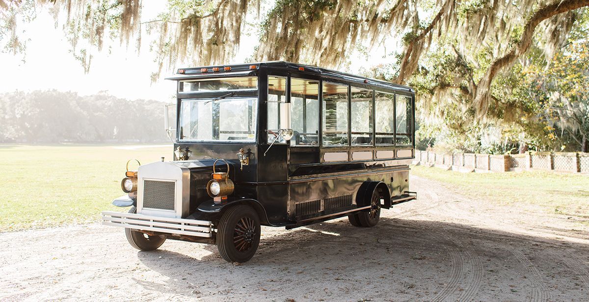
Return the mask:
<path id="1" fill-rule="evenodd" d="M 291 63 L 286 61 L 269 61 L 259 63 L 210 65 L 203 67 L 178 68 L 177 74 L 174 74 L 174 76 L 171 77 L 167 77 L 166 80 L 188 80 L 194 78 L 211 78 L 219 76 L 248 76 L 257 74 L 257 70 L 262 69 L 292 71 L 299 74 L 314 74 L 326 78 L 345 80 L 352 83 L 365 84 L 370 86 L 377 86 L 382 88 L 415 93 L 415 90 L 408 86 L 394 84 L 382 80 L 376 80 L 373 78 L 356 76 L 354 74 L 349 73 L 342 73 L 340 71 L 331 70 L 327 68 Z"/>

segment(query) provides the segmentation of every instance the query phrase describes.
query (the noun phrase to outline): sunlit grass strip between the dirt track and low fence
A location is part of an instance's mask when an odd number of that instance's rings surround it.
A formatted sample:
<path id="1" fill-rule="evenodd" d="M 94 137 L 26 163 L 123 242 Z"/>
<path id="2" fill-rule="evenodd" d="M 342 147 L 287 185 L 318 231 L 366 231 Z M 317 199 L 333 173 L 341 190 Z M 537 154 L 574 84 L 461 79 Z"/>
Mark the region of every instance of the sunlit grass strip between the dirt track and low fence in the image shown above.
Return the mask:
<path id="1" fill-rule="evenodd" d="M 589 175 L 544 171 L 461 173 L 414 166 L 413 175 L 438 180 L 461 195 L 498 205 L 526 203 L 547 212 L 587 216 Z"/>

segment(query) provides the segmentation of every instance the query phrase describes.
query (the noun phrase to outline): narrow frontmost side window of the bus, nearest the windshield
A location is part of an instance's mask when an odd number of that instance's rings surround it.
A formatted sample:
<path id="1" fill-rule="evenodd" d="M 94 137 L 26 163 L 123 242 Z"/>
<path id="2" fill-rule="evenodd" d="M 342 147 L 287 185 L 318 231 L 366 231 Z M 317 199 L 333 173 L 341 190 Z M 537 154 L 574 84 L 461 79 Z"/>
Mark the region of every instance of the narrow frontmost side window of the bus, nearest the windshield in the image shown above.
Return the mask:
<path id="1" fill-rule="evenodd" d="M 280 106 L 279 103 L 286 102 L 286 77 L 268 77 L 268 100 L 267 100 L 267 138 L 268 143 L 274 142 L 280 132 Z M 276 143 L 284 143 L 279 138 Z"/>

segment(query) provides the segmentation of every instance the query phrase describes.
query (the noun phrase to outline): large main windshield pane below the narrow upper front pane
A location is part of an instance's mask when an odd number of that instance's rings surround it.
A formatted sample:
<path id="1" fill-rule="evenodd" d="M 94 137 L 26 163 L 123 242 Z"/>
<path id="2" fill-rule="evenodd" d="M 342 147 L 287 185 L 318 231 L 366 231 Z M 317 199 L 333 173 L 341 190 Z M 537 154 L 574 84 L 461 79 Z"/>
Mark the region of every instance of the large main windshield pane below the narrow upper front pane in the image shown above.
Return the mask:
<path id="1" fill-rule="evenodd" d="M 256 141 L 256 98 L 182 100 L 180 110 L 180 140 Z"/>

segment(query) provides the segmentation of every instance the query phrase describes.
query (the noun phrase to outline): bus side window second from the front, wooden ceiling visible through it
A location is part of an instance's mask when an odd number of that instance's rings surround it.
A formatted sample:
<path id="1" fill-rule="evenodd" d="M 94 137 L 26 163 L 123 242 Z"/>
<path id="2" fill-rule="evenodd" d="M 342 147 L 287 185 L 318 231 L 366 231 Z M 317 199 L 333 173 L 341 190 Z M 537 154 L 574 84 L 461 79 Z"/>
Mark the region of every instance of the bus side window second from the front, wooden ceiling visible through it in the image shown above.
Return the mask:
<path id="1" fill-rule="evenodd" d="M 319 82 L 290 78 L 290 125 L 294 131 L 291 146 L 319 143 Z"/>

